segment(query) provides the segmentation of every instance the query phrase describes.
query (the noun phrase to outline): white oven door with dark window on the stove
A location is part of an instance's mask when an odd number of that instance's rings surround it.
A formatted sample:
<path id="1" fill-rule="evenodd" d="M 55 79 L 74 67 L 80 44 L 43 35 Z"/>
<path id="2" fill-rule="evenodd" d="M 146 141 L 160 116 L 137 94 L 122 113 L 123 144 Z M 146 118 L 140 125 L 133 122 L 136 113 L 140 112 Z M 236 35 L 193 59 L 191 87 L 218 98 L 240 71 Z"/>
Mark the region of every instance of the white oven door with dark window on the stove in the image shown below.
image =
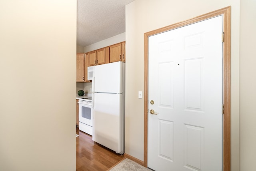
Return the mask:
<path id="1" fill-rule="evenodd" d="M 93 108 L 88 101 L 78 101 L 79 103 L 79 122 L 92 127 Z"/>

